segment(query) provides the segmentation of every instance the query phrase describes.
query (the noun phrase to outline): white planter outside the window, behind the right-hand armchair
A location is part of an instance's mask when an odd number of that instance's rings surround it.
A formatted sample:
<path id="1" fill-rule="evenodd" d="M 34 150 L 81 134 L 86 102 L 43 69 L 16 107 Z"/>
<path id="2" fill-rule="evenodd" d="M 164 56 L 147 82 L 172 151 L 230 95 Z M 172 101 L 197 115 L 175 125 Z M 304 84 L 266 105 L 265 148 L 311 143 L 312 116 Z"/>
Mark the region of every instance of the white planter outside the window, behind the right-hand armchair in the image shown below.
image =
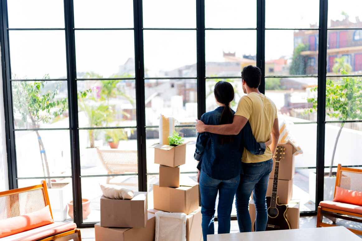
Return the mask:
<path id="1" fill-rule="evenodd" d="M 336 177 L 324 177 L 324 194 L 323 200 L 333 200 L 334 186 L 336 185 Z M 309 173 L 309 198 L 312 202 L 316 202 L 316 173 Z"/>

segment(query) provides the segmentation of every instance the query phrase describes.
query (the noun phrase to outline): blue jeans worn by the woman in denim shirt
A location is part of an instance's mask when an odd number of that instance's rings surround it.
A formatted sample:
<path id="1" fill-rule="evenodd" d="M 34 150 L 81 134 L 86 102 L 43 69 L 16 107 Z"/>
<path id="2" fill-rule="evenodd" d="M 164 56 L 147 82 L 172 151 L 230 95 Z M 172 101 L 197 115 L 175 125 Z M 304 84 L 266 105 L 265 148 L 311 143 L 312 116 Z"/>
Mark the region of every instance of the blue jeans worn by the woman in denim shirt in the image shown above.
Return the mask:
<path id="1" fill-rule="evenodd" d="M 230 233 L 230 215 L 235 191 L 240 176 L 230 180 L 216 180 L 201 170 L 200 194 L 202 213 L 202 235 L 206 241 L 207 234 L 214 234 L 215 201 L 219 191 L 218 233 Z"/>

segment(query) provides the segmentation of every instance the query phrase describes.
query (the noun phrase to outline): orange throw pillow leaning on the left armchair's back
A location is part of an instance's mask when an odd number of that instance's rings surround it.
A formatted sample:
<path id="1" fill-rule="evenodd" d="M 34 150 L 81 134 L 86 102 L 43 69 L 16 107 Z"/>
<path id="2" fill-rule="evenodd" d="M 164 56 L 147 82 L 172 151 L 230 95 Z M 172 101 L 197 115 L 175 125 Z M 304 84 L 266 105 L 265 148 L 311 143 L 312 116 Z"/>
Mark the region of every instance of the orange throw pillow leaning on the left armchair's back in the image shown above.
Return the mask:
<path id="1" fill-rule="evenodd" d="M 41 210 L 31 212 L 30 214 L 0 220 L 0 238 L 51 223 L 54 223 L 54 221 L 51 218 L 49 205 L 47 205 Z"/>

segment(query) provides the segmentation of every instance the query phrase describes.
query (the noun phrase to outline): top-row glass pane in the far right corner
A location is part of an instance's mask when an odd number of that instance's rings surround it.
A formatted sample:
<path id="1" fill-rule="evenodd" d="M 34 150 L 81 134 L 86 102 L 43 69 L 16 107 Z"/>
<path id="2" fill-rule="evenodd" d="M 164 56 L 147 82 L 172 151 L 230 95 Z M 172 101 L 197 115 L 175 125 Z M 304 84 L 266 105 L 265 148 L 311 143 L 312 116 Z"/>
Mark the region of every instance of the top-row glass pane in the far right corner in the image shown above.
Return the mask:
<path id="1" fill-rule="evenodd" d="M 328 27 L 362 27 L 360 9 L 362 2 L 359 0 L 328 0 Z"/>

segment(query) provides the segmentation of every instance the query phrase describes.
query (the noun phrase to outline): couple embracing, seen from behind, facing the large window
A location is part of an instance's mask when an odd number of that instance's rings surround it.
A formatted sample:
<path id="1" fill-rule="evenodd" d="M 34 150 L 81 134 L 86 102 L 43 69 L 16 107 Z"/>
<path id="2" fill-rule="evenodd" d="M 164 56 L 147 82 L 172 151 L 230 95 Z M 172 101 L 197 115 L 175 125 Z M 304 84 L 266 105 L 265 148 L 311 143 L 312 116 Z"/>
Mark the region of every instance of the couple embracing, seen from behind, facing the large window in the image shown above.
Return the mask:
<path id="1" fill-rule="evenodd" d="M 234 90 L 219 81 L 214 88 L 218 108 L 197 120 L 199 132 L 194 158 L 199 161 L 202 233 L 214 234 L 215 201 L 218 202 L 218 233 L 230 232 L 230 216 L 236 194 L 240 232 L 251 232 L 249 197 L 257 209 L 256 231 L 265 231 L 268 221 L 266 190 L 273 169 L 272 155 L 279 139 L 275 104 L 258 91 L 261 70 L 247 66 L 241 72 L 243 90 L 236 112 L 230 108 Z M 271 138 L 270 138 L 271 137 Z"/>

